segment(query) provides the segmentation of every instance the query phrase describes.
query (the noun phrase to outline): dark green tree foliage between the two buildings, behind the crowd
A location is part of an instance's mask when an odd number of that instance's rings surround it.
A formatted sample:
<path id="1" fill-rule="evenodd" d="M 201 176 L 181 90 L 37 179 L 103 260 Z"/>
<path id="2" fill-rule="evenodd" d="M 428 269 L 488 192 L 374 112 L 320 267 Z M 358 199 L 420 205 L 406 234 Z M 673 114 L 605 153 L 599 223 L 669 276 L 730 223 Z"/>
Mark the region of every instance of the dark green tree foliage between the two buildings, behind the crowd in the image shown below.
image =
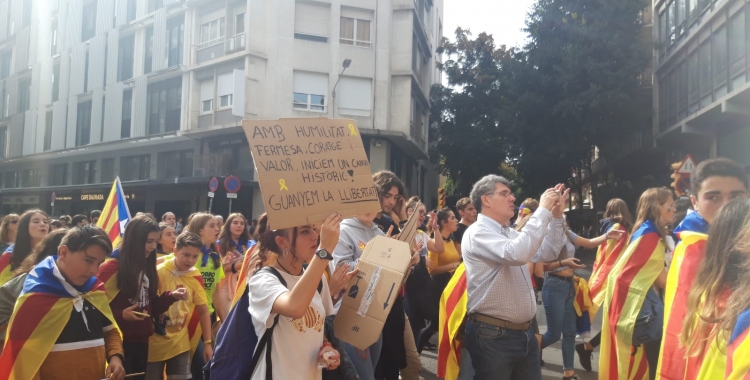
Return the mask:
<path id="1" fill-rule="evenodd" d="M 522 49 L 496 47 L 463 29 L 443 40 L 431 121 L 444 174 L 463 191 L 510 164 L 538 194 L 569 182 L 593 146 L 616 144 L 650 123 L 639 76 L 649 60 L 642 0 L 538 0 Z M 434 155 L 433 155 L 434 157 Z M 468 183 L 466 185 L 464 183 Z"/>

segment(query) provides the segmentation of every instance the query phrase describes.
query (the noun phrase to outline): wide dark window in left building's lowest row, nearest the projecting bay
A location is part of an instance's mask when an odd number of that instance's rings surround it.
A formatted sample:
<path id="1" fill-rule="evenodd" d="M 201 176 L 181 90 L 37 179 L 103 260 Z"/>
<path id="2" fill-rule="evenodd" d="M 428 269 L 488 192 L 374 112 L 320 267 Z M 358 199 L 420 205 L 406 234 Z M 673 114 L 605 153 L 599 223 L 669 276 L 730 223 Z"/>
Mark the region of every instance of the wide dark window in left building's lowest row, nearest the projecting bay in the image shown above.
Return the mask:
<path id="1" fill-rule="evenodd" d="M 146 104 L 148 134 L 179 130 L 180 110 L 182 108 L 182 77 L 150 84 Z"/>

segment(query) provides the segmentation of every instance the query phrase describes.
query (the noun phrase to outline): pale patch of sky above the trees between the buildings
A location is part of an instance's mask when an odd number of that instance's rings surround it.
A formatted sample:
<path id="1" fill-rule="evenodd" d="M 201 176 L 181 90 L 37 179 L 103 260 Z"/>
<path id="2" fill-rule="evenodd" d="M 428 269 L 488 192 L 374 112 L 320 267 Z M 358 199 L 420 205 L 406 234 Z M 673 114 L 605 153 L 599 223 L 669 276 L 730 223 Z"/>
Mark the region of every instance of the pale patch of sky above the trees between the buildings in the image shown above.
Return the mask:
<path id="1" fill-rule="evenodd" d="M 534 0 L 444 0 L 443 34 L 455 39 L 457 27 L 474 36 L 492 34 L 495 45 L 520 46 L 526 40 L 526 13 Z"/>

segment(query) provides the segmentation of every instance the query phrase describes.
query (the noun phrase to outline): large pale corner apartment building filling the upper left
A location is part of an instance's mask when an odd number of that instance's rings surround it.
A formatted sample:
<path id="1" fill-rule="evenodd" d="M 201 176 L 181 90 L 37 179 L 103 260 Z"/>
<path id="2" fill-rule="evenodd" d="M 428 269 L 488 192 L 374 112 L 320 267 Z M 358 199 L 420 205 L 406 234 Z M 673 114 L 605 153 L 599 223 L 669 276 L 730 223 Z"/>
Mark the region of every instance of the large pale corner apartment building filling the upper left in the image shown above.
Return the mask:
<path id="1" fill-rule="evenodd" d="M 236 175 L 232 210 L 257 216 L 241 121 L 285 117 L 355 119 L 373 171 L 430 204 L 442 5 L 0 0 L 1 211 L 97 209 L 119 176 L 131 211 L 187 216 Z M 227 206 L 220 190 L 213 211 Z"/>

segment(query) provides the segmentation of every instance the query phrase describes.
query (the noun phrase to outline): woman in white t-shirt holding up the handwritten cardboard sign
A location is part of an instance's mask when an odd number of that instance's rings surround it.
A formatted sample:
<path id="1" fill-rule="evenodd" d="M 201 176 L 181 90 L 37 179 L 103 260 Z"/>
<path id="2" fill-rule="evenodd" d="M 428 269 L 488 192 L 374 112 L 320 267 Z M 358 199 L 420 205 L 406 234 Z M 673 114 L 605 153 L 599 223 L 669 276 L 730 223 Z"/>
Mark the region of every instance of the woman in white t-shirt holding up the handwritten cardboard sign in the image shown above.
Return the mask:
<path id="1" fill-rule="evenodd" d="M 249 311 L 260 337 L 252 379 L 321 380 L 321 369 L 338 368 L 339 352 L 323 329 L 325 318 L 334 314 L 324 272 L 333 259 L 340 223 L 341 215 L 329 215 L 320 226 L 318 244 L 312 225 L 273 230 L 266 214 L 258 220 L 261 260 L 277 260 L 248 281 Z M 307 269 L 303 263 L 309 263 Z"/>

